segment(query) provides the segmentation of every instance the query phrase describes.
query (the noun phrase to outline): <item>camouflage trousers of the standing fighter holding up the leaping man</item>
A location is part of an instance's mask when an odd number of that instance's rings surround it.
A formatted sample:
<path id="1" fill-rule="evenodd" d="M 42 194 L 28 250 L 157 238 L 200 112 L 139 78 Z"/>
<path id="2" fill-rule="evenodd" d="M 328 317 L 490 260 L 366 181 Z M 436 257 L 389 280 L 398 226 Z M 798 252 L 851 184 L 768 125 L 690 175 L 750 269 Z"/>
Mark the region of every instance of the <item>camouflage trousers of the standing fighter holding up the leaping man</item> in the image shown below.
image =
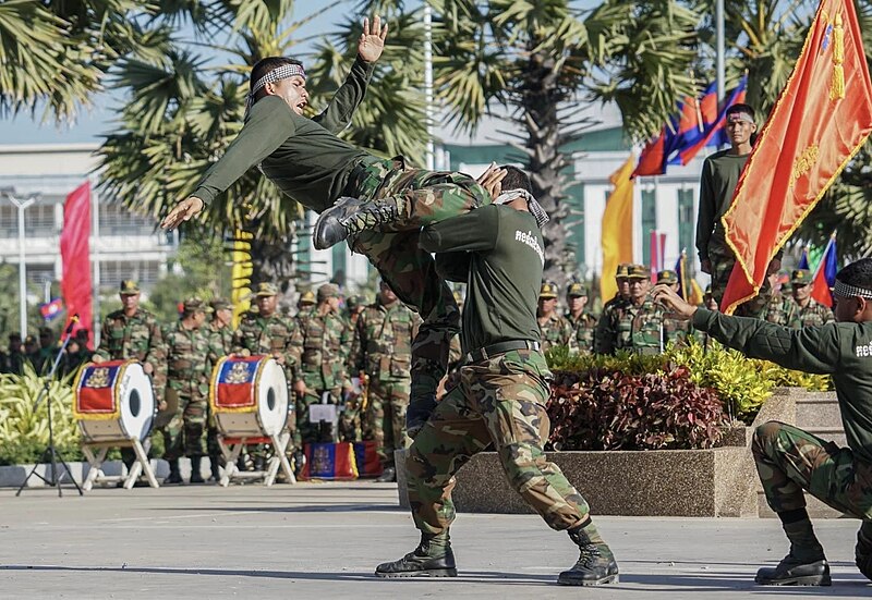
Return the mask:
<path id="1" fill-rule="evenodd" d="M 441 534 L 455 519 L 455 474 L 494 444 L 509 483 L 557 530 L 583 522 L 590 509 L 557 465 L 545 457 L 549 377 L 545 358 L 513 351 L 460 368 L 460 381 L 409 449 L 409 502 L 415 526 Z"/>

